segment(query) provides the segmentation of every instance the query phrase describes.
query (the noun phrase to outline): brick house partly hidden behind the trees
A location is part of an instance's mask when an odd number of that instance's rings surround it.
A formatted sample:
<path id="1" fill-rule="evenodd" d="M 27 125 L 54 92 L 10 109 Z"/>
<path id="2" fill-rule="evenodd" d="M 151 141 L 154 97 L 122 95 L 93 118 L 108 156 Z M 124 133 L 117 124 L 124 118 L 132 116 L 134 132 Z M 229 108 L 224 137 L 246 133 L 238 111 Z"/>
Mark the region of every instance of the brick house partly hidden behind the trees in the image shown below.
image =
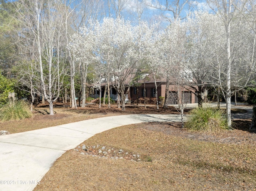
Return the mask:
<path id="1" fill-rule="evenodd" d="M 164 78 L 156 79 L 157 90 L 154 83 L 154 78 L 152 75 L 147 75 L 144 79 L 140 79 L 136 82 L 136 85 L 132 85 L 129 88 L 128 94 L 126 95 L 126 103 L 136 103 L 139 101 L 140 103 L 144 103 L 144 96 L 146 94 L 146 103 L 156 104 L 156 91 L 159 97 L 165 97 L 165 89 L 166 89 L 166 80 Z M 144 91 L 144 85 L 146 91 Z M 104 94 L 105 84 L 102 84 L 101 87 L 102 97 Z M 90 87 L 90 97 L 98 98 L 100 96 L 99 90 Z M 110 87 L 110 97 L 117 101 L 117 92 L 114 87 Z M 177 104 L 178 103 L 178 91 L 177 86 L 173 83 L 169 85 L 169 100 L 168 104 Z M 198 99 L 194 94 L 193 90 L 188 86 L 184 88 L 184 102 L 185 103 L 197 103 Z"/>

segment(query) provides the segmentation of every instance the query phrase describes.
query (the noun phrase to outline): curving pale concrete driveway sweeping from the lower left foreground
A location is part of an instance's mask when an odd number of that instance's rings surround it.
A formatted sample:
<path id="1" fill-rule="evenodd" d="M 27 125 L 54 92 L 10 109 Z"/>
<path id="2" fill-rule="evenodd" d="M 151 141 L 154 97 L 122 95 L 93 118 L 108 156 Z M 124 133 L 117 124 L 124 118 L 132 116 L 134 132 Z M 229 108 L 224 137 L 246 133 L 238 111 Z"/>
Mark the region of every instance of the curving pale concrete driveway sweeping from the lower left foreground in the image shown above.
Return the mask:
<path id="1" fill-rule="evenodd" d="M 56 159 L 97 133 L 156 121 L 176 122 L 180 115 L 110 116 L 0 136 L 0 191 L 32 191 Z"/>

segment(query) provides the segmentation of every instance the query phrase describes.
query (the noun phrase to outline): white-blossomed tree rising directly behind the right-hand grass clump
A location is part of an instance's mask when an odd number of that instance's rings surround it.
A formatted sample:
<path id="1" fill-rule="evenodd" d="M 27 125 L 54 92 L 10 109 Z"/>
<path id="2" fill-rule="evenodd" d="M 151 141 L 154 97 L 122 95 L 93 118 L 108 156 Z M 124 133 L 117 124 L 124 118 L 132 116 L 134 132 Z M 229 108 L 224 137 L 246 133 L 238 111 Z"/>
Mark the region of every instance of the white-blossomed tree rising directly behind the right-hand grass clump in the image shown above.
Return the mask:
<path id="1" fill-rule="evenodd" d="M 186 20 L 189 42 L 187 55 L 189 59 L 188 72 L 192 73 L 189 83 L 196 96 L 198 105 L 202 105 L 202 93 L 211 85 L 222 87 L 223 79 L 223 44 L 224 30 L 220 19 L 208 12 L 194 12 Z M 218 96 L 219 97 L 219 96 Z"/>

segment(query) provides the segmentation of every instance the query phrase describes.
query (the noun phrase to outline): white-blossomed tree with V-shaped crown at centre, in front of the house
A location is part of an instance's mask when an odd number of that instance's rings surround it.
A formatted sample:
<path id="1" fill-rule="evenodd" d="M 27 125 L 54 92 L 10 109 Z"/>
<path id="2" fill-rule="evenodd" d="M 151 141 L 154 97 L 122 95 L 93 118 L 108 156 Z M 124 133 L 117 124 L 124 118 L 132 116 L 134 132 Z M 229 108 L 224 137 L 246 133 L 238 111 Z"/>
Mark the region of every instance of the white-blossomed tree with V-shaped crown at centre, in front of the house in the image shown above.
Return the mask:
<path id="1" fill-rule="evenodd" d="M 141 63 L 142 30 L 130 22 L 117 18 L 105 18 L 95 26 L 98 55 L 104 65 L 108 80 L 121 97 L 122 110 L 125 110 L 125 95 L 128 94 L 130 81 Z"/>

